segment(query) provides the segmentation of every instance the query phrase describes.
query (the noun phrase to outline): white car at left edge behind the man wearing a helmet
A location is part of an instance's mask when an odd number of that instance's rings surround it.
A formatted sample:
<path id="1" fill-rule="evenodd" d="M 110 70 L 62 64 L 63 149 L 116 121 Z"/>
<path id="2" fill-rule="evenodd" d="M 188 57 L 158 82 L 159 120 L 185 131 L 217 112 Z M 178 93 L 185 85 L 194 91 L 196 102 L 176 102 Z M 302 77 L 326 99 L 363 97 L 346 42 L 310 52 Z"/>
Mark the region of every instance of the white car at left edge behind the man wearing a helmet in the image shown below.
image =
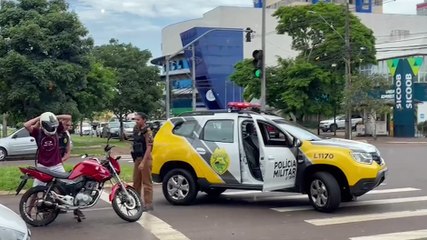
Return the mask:
<path id="1" fill-rule="evenodd" d="M 0 161 L 8 156 L 35 155 L 37 144 L 25 128 L 12 133 L 10 136 L 0 138 Z"/>

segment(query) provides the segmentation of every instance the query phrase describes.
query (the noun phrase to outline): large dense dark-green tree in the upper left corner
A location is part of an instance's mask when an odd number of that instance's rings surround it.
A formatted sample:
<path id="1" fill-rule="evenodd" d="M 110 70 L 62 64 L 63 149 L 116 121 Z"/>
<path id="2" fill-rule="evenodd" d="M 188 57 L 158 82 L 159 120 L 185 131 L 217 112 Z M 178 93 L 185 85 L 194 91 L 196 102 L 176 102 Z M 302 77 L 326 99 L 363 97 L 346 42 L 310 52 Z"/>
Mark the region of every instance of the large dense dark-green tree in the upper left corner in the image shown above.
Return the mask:
<path id="1" fill-rule="evenodd" d="M 45 111 L 79 113 L 93 41 L 66 2 L 5 1 L 0 27 L 0 108 L 21 120 Z"/>

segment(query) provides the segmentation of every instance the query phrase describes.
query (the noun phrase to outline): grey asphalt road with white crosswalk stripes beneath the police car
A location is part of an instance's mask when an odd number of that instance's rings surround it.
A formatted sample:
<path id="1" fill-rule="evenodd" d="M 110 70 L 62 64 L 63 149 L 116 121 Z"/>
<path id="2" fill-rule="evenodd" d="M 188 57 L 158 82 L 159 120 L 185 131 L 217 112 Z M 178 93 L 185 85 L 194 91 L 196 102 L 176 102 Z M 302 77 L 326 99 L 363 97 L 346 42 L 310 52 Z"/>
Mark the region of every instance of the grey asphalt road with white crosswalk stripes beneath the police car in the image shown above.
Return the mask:
<path id="1" fill-rule="evenodd" d="M 200 193 L 195 205 L 172 206 L 156 185 L 155 210 L 139 223 L 124 222 L 101 202 L 83 223 L 60 215 L 32 228 L 32 239 L 427 239 L 427 144 L 377 147 L 389 167 L 386 182 L 332 214 L 312 210 L 302 195 L 253 191 L 227 191 L 217 199 Z M 0 197 L 15 211 L 18 201 Z M 377 236 L 390 233 L 400 235 Z"/>

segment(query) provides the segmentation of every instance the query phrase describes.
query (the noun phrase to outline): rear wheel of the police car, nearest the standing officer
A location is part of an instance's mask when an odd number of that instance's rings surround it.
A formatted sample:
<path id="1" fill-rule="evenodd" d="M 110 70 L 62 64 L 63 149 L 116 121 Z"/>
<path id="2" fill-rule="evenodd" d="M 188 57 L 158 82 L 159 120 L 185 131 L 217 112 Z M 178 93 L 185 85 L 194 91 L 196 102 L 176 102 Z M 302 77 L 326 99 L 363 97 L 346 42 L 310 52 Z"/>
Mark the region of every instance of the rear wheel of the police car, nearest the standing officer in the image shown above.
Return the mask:
<path id="1" fill-rule="evenodd" d="M 186 169 L 171 170 L 163 179 L 163 195 L 172 204 L 192 204 L 197 192 L 195 177 Z"/>

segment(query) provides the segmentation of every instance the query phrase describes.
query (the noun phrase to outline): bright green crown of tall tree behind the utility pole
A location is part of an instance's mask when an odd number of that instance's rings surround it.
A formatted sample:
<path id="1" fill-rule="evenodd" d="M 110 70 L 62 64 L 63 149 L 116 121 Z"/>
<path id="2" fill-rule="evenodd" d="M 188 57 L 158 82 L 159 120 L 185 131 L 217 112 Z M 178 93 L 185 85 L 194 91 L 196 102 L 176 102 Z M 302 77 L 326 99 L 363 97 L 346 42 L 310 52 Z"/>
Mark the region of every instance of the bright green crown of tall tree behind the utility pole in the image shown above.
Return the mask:
<path id="1" fill-rule="evenodd" d="M 277 32 L 292 37 L 292 48 L 300 52 L 298 58 L 331 70 L 344 73 L 345 7 L 336 4 L 281 7 L 273 16 L 279 20 Z M 350 45 L 353 69 L 360 64 L 374 64 L 375 37 L 373 31 L 350 13 Z"/>

